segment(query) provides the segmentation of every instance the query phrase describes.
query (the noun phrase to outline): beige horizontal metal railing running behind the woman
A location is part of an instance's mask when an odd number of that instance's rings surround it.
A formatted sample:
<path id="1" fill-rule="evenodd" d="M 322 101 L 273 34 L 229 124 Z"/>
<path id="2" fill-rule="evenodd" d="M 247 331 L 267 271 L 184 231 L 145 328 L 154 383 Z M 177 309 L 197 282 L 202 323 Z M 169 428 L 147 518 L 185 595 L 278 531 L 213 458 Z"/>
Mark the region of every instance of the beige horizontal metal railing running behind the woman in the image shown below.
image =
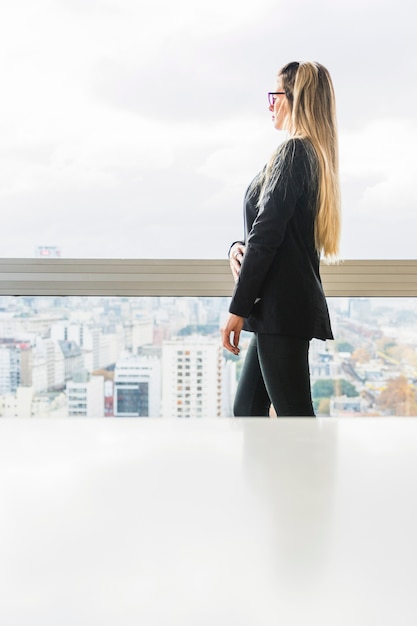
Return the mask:
<path id="1" fill-rule="evenodd" d="M 416 297 L 417 260 L 321 266 L 329 297 Z M 230 296 L 227 260 L 0 259 L 0 295 Z"/>

